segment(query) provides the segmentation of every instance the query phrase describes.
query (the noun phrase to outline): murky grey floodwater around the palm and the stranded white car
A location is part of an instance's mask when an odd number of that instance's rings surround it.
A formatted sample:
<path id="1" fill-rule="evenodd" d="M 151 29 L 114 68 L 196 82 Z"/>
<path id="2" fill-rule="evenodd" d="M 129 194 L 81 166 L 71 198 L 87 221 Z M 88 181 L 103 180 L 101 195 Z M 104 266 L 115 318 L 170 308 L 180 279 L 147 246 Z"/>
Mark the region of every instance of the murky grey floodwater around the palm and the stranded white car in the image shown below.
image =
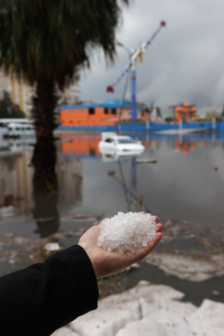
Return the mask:
<path id="1" fill-rule="evenodd" d="M 162 223 L 170 219 L 179 227 L 184 223 L 187 239 L 179 230 L 158 250 L 223 253 L 224 133 L 130 135 L 138 137 L 146 147 L 140 157 L 101 155 L 100 134 L 61 134 L 57 140 L 59 192 L 45 199 L 32 191 L 32 146 L 11 143 L 0 151 L 0 195 L 9 194 L 16 199 L 15 205 L 0 208 L 0 275 L 32 262 L 26 252 L 19 257 L 21 248 L 14 257 L 9 253 L 18 250 L 15 243 L 9 243 L 10 235 L 30 238 L 32 245 L 56 232 L 89 227 L 97 216 L 112 216 L 118 211 L 144 210 L 157 215 Z M 157 162 L 136 163 L 142 158 Z M 79 217 L 83 214 L 89 214 L 89 218 Z M 66 239 L 59 237 L 58 242 L 66 248 L 77 243 L 79 237 L 79 233 Z M 142 262 L 138 270 L 124 277 L 127 287 L 148 280 L 173 285 L 196 304 L 204 297 L 224 302 L 223 276 L 215 274 L 192 282 L 166 273 Z M 200 286 L 202 282 L 204 288 Z M 212 290 L 219 294 L 213 295 Z"/>

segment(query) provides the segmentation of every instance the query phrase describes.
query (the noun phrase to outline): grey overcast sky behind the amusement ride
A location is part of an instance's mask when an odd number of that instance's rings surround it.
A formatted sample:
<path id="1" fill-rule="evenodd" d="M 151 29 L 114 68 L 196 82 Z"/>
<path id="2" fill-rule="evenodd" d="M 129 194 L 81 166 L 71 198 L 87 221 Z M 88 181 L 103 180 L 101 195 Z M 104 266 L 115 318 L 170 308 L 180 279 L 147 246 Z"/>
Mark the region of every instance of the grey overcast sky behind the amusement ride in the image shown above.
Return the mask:
<path id="1" fill-rule="evenodd" d="M 138 63 L 137 100 L 162 108 L 188 101 L 199 113 L 222 111 L 224 104 L 224 0 L 135 0 L 123 9 L 117 39 L 136 48 L 166 20 Z M 106 66 L 94 56 L 91 71 L 81 74 L 81 99 L 104 101 L 122 98 L 125 80 L 107 93 L 127 62 L 128 53 L 117 47 L 115 64 Z M 127 98 L 130 98 L 130 89 Z"/>

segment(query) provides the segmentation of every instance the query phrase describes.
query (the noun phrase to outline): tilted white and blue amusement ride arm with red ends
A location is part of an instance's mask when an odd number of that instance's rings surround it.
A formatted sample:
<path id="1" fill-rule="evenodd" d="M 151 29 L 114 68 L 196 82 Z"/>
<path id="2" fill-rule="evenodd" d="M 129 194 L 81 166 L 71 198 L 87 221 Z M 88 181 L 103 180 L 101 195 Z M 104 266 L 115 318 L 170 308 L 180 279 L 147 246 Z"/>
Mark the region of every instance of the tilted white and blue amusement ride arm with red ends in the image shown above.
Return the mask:
<path id="1" fill-rule="evenodd" d="M 122 72 L 118 75 L 114 83 L 109 85 L 107 87 L 107 92 L 114 92 L 113 87 L 117 85 L 122 77 L 126 74 L 126 72 L 137 62 L 138 58 L 141 57 L 147 50 L 149 44 L 152 42 L 152 40 L 156 37 L 156 35 L 160 32 L 161 28 L 166 26 L 165 21 L 162 21 L 160 23 L 160 26 L 154 31 L 154 33 L 149 36 L 141 45 L 140 47 L 133 53 L 133 55 L 130 57 L 129 62 L 125 65 Z"/>

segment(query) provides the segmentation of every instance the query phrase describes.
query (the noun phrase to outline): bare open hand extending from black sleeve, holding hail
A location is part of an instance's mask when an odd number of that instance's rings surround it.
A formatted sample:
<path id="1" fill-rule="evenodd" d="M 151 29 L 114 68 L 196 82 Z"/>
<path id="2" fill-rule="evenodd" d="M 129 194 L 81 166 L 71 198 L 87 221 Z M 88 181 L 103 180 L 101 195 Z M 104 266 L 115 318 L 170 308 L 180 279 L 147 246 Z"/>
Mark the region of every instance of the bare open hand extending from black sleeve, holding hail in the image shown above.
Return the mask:
<path id="1" fill-rule="evenodd" d="M 142 213 L 145 213 L 142 211 Z M 158 217 L 154 216 L 158 221 Z M 96 278 L 101 278 L 115 274 L 131 264 L 142 260 L 149 252 L 159 243 L 163 234 L 161 233 L 163 225 L 157 224 L 158 230 L 155 239 L 149 241 L 147 246 L 137 250 L 136 253 L 125 252 L 119 254 L 117 252 L 107 252 L 96 245 L 97 238 L 100 234 L 99 225 L 92 226 L 80 238 L 78 245 L 84 248 L 93 265 Z"/>

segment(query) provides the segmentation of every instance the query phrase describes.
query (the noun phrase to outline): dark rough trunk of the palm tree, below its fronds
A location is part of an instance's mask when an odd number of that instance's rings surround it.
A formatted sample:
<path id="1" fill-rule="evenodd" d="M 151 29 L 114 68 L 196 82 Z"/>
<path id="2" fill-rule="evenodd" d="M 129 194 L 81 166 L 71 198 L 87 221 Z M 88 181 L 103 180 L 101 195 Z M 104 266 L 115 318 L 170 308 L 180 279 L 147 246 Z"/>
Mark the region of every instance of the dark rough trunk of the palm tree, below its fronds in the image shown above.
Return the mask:
<path id="1" fill-rule="evenodd" d="M 57 96 L 52 79 L 37 79 L 36 96 L 33 98 L 33 103 L 37 138 L 32 158 L 34 189 L 42 191 L 56 190 L 56 148 L 53 130 L 56 127 L 54 110 Z"/>

